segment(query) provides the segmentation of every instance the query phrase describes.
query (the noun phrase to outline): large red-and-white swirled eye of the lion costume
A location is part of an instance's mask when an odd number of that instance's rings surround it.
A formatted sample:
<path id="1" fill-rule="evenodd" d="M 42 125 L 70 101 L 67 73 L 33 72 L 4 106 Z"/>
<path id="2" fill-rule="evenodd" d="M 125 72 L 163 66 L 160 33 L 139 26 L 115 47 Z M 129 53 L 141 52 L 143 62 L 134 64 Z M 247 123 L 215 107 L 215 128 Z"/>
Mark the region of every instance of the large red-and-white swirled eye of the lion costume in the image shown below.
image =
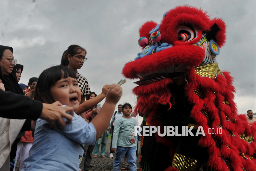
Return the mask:
<path id="1" fill-rule="evenodd" d="M 196 38 L 195 30 L 187 26 L 179 26 L 178 35 L 179 35 L 179 41 L 181 42 L 188 42 Z"/>

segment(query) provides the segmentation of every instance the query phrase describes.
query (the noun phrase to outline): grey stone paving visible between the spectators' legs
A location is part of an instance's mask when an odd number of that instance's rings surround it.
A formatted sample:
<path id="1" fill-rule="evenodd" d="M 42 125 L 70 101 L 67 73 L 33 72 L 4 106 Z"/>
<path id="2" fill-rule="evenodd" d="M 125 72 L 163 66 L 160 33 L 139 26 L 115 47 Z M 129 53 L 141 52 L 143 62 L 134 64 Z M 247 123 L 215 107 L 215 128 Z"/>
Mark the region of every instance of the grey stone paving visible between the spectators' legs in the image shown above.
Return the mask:
<path id="1" fill-rule="evenodd" d="M 106 146 L 106 153 L 105 153 L 106 158 L 101 158 L 100 152 L 98 153 L 98 158 L 93 158 L 92 164 L 95 165 L 95 167 L 91 168 L 91 171 L 113 171 L 114 159 L 109 158 L 110 142 L 111 142 L 111 139 L 108 139 L 108 144 Z M 114 154 L 114 157 L 115 157 L 115 154 Z M 139 158 L 137 158 L 137 167 L 139 167 Z M 17 161 L 15 171 L 19 171 L 19 159 Z"/>

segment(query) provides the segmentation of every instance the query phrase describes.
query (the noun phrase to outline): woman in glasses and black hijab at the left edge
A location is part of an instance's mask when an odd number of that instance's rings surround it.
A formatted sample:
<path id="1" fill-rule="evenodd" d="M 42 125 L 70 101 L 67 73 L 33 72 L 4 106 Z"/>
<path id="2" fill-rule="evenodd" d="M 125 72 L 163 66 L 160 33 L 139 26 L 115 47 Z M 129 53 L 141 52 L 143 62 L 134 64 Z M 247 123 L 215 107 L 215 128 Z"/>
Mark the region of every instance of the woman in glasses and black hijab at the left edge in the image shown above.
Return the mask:
<path id="1" fill-rule="evenodd" d="M 4 84 L 5 91 L 15 94 L 23 94 L 13 70 L 17 60 L 14 60 L 12 47 L 0 45 L 0 79 Z"/>

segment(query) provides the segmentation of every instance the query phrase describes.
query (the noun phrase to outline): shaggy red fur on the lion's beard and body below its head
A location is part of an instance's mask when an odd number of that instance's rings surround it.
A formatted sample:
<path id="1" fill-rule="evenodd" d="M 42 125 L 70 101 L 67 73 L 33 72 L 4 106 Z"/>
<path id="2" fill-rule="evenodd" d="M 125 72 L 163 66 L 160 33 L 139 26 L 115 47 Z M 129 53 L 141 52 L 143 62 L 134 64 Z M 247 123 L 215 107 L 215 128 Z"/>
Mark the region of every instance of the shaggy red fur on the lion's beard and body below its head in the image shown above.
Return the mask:
<path id="1" fill-rule="evenodd" d="M 239 136 L 242 133 L 247 135 L 256 136 L 256 123 L 248 124 L 245 115 L 237 115 L 236 105 L 233 102 L 235 91 L 232 82 L 233 78 L 230 77 L 228 72 L 223 72 L 224 76 L 217 75 L 217 80 L 214 81 L 207 77 L 201 77 L 195 73 L 193 68 L 187 70 L 188 84 L 185 86 L 185 95 L 188 101 L 194 104 L 191 117 L 196 121 L 197 125 L 203 127 L 204 130 L 214 128 L 215 131 L 220 128 L 216 125 L 222 126 L 222 133 L 215 134 L 219 141 L 220 148 L 215 145 L 211 134 L 205 134 L 199 141 L 201 147 L 207 147 L 209 150 L 209 165 L 213 169 L 228 171 L 224 158 L 229 159 L 229 163 L 233 170 L 241 171 L 242 167 L 248 171 L 256 170 L 255 159 L 250 156 L 256 155 L 256 142 L 246 142 Z M 162 121 L 156 119 L 158 114 L 158 104 L 169 104 L 171 93 L 167 89 L 167 85 L 171 83 L 171 79 L 164 79 L 160 82 L 154 82 L 148 85 L 142 85 L 134 88 L 134 93 L 141 96 L 135 110 L 143 112 L 149 106 L 154 106 L 154 110 L 149 113 L 147 123 L 154 126 L 163 126 Z M 205 92 L 206 97 L 199 99 L 194 93 L 194 89 L 201 87 Z M 215 93 L 214 93 L 215 92 Z M 228 101 L 229 105 L 224 104 L 224 99 Z M 214 105 L 214 101 L 217 105 Z M 207 119 L 200 111 L 206 109 L 212 121 L 212 125 L 207 125 Z M 228 117 L 230 119 L 227 120 Z M 233 123 L 231 122 L 233 121 Z M 234 136 L 230 136 L 229 131 L 233 132 Z M 156 141 L 165 144 L 170 148 L 170 156 L 173 157 L 174 150 L 170 140 L 156 135 Z M 227 147 L 229 145 L 229 148 Z M 241 154 L 241 155 L 240 155 Z M 242 157 L 242 155 L 244 157 Z M 247 160 L 245 159 L 247 158 Z M 253 162 L 254 161 L 254 162 Z M 167 170 L 175 168 L 169 167 Z"/>

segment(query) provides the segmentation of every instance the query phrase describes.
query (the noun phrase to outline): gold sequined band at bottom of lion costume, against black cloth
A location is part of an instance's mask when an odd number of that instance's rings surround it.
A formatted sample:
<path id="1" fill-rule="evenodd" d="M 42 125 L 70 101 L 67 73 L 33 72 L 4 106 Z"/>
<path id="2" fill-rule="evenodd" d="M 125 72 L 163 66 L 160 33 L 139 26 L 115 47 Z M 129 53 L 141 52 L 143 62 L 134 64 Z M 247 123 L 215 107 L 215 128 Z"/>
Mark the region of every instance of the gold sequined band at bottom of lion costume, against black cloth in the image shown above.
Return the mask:
<path id="1" fill-rule="evenodd" d="M 172 160 L 172 166 L 182 171 L 198 171 L 201 165 L 202 163 L 199 160 L 177 153 L 174 154 Z"/>

